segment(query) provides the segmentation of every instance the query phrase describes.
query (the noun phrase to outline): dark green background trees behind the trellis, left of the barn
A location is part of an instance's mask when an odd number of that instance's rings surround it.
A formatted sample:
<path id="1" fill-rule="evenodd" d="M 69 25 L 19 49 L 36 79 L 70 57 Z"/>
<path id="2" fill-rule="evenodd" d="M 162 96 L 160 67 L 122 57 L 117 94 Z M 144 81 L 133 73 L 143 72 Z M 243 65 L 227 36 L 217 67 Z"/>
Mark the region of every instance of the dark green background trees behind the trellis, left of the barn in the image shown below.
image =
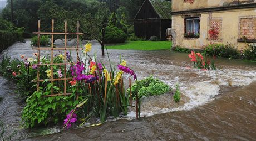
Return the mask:
<path id="1" fill-rule="evenodd" d="M 55 19 L 55 31 L 63 32 L 67 20 L 68 32 L 80 30 L 84 39 L 96 39 L 104 48 L 105 43 L 123 43 L 133 35 L 133 19 L 144 0 L 12 0 L 2 10 L 1 17 L 24 27 L 23 36 L 30 38 L 37 31 L 41 19 L 41 30 L 50 31 L 51 20 Z M 61 38 L 56 36 L 57 38 Z"/>

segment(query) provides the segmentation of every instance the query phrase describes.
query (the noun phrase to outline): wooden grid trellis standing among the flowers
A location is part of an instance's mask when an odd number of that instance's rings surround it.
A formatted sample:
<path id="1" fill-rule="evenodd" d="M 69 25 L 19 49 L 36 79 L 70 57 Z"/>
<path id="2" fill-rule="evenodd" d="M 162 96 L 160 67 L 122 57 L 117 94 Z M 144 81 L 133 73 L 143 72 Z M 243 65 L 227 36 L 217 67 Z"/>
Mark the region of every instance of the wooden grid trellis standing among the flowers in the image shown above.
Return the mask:
<path id="1" fill-rule="evenodd" d="M 40 79 L 40 66 L 48 66 L 50 65 L 51 66 L 51 79 L 49 79 L 49 81 L 51 81 L 51 83 L 53 83 L 54 81 L 64 81 L 64 91 L 63 93 L 53 93 L 53 89 L 51 90 L 51 95 L 47 95 L 45 97 L 52 97 L 52 96 L 65 96 L 65 95 L 71 95 L 72 93 L 67 93 L 66 92 L 66 85 L 67 85 L 67 80 L 72 80 L 71 77 L 67 77 L 66 75 L 66 65 L 73 65 L 75 63 L 68 63 L 67 62 L 67 57 L 66 57 L 66 53 L 67 53 L 67 50 L 76 50 L 78 52 L 79 50 L 79 36 L 80 35 L 83 35 L 83 33 L 80 33 L 79 32 L 79 27 L 80 27 L 80 24 L 79 22 L 77 22 L 77 30 L 76 30 L 76 33 L 68 33 L 67 32 L 67 21 L 65 21 L 65 32 L 64 33 L 57 33 L 57 32 L 54 32 L 54 20 L 52 20 L 52 27 L 51 27 L 51 32 L 41 32 L 41 29 L 40 29 L 40 20 L 38 20 L 38 32 L 33 32 L 33 34 L 37 34 L 38 35 L 38 39 L 37 39 L 37 91 L 39 91 L 39 87 L 40 87 L 40 82 L 43 82 L 45 80 L 43 79 Z M 51 47 L 50 48 L 47 48 L 47 47 L 40 47 L 40 35 L 51 35 Z M 65 39 L 65 44 L 64 44 L 64 47 L 62 48 L 54 48 L 54 44 L 53 44 L 53 41 L 54 41 L 54 35 L 64 35 L 64 39 Z M 76 47 L 68 47 L 67 48 L 67 35 L 77 35 L 77 45 Z M 40 63 L 40 50 L 51 50 L 51 63 L 50 64 L 41 64 Z M 53 50 L 64 50 L 64 63 L 54 63 L 53 62 Z M 79 60 L 79 56 L 78 56 L 78 53 L 77 53 L 77 61 L 80 61 Z M 58 78 L 58 79 L 54 79 L 53 78 L 53 66 L 54 65 L 64 65 L 65 69 L 64 69 L 64 73 L 63 73 L 63 78 Z"/>

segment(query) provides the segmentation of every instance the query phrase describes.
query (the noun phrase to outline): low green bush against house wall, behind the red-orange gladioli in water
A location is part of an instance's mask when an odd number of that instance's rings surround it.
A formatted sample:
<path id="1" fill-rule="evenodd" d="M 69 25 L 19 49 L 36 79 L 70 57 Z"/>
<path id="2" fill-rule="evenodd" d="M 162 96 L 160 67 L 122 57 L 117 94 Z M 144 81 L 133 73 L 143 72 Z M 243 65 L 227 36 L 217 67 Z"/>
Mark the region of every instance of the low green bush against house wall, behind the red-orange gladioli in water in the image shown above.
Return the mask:
<path id="1" fill-rule="evenodd" d="M 231 43 L 227 45 L 208 44 L 203 49 L 203 53 L 221 58 L 239 58 L 239 51 Z"/>

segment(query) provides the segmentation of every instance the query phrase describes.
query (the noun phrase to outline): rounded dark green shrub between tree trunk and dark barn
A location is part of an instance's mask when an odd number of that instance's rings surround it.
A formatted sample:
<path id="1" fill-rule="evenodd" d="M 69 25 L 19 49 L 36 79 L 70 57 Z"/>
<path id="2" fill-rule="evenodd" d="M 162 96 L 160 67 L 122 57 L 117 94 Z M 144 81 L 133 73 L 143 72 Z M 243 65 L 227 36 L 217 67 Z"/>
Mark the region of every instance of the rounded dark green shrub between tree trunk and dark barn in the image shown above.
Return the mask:
<path id="1" fill-rule="evenodd" d="M 117 27 L 110 26 L 106 28 L 106 43 L 124 43 L 127 36 L 124 31 Z"/>

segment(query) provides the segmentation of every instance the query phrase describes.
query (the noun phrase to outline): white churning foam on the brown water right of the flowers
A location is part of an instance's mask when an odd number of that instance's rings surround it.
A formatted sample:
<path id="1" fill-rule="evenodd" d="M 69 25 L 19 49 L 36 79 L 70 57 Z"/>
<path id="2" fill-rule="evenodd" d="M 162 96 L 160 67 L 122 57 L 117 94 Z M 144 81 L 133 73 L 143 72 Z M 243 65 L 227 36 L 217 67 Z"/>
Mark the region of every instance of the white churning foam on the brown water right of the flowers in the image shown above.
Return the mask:
<path id="1" fill-rule="evenodd" d="M 250 83 L 256 81 L 256 71 L 254 70 L 239 70 L 239 69 L 221 69 L 201 71 L 196 69 L 189 69 L 186 71 L 194 72 L 199 75 L 200 78 L 196 78 L 195 81 L 188 78 L 188 81 L 181 81 L 180 91 L 190 100 L 183 106 L 178 108 L 159 108 L 149 107 L 141 111 L 141 116 L 152 116 L 154 114 L 190 110 L 194 107 L 198 107 L 214 100 L 214 96 L 219 95 L 220 86 L 247 86 Z M 175 83 L 178 82 L 179 77 L 175 76 L 173 80 L 163 80 L 168 85 L 174 88 Z M 161 79 L 161 78 L 160 78 Z M 151 110 L 150 110 L 151 109 Z M 134 119 L 136 113 L 131 111 L 126 119 Z"/>

